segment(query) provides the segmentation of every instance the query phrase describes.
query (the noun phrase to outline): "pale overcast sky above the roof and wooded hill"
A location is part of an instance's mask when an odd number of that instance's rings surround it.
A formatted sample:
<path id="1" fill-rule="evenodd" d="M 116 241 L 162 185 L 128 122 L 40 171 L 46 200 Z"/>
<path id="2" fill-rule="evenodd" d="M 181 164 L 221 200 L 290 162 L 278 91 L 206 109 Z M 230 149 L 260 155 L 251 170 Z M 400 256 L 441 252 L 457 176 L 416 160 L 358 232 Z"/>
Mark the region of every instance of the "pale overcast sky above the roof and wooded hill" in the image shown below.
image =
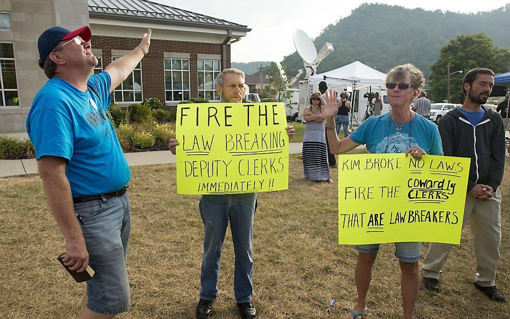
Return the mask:
<path id="1" fill-rule="evenodd" d="M 296 1 L 296 0 L 151 0 L 175 8 L 206 14 L 248 26 L 247 36 L 232 44 L 232 62 L 282 61 L 284 56 L 295 51 L 292 35 L 301 29 L 312 39 L 317 37 L 329 24 L 349 16 L 362 3 L 375 1 Z M 321 5 L 323 9 L 311 7 Z M 379 2 L 381 3 L 381 2 Z M 449 10 L 453 12 L 491 11 L 510 3 L 510 0 L 467 1 L 467 0 L 390 0 L 384 2 L 405 8 L 425 10 Z M 313 22 L 312 22 L 313 21 Z M 317 47 L 317 51 L 320 47 Z"/>

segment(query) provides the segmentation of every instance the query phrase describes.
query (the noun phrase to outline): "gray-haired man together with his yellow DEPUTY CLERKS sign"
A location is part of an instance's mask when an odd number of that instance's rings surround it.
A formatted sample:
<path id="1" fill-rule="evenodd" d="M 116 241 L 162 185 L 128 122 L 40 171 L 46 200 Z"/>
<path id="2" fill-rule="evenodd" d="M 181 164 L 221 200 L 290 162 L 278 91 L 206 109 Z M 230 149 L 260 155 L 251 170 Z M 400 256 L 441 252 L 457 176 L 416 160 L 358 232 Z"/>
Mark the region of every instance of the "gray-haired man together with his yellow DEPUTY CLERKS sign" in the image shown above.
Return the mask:
<path id="1" fill-rule="evenodd" d="M 199 209 L 205 235 L 196 317 L 202 319 L 211 314 L 218 292 L 221 247 L 230 220 L 235 253 L 234 295 L 242 318 L 255 318 L 251 253 L 256 192 L 287 189 L 288 140 L 295 130 L 289 125 L 284 130 L 283 105 L 241 104 L 245 91 L 243 71 L 224 69 L 216 82 L 223 104 L 180 106 L 177 136 L 183 137 L 182 144 L 171 139 L 169 145 L 173 154 L 180 145 L 178 192 L 202 194 Z M 181 135 L 181 130 L 186 134 Z M 215 147 L 218 144 L 220 147 Z"/>

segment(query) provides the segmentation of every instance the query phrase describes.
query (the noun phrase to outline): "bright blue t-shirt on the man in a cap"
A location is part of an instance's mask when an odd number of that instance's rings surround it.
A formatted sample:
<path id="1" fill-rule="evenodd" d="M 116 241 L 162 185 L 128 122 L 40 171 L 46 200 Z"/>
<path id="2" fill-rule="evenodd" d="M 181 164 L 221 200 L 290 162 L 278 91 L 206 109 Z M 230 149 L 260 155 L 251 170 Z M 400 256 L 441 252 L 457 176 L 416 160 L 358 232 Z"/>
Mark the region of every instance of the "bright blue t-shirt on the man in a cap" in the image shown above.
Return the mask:
<path id="1" fill-rule="evenodd" d="M 87 92 L 52 78 L 35 96 L 27 117 L 27 132 L 36 159 L 41 156 L 67 159 L 66 176 L 73 198 L 116 191 L 131 178 L 106 115 L 110 85 L 107 72 L 91 76 Z"/>

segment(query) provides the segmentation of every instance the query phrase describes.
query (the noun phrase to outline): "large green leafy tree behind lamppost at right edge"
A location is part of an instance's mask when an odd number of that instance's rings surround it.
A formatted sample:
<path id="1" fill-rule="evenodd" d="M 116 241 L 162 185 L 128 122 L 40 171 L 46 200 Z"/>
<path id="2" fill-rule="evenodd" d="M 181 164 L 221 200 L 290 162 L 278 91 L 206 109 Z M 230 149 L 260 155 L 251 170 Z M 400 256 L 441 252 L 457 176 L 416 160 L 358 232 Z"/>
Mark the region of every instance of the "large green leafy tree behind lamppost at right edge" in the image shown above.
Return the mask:
<path id="1" fill-rule="evenodd" d="M 463 75 L 475 67 L 490 68 L 495 73 L 507 72 L 510 69 L 510 50 L 493 46 L 492 38 L 483 33 L 460 35 L 451 39 L 441 48 L 440 58 L 430 66 L 429 93 L 434 101 L 447 99 L 448 63 L 450 73 L 464 71 L 462 75 L 456 73 L 450 76 L 450 102 L 463 103 Z"/>

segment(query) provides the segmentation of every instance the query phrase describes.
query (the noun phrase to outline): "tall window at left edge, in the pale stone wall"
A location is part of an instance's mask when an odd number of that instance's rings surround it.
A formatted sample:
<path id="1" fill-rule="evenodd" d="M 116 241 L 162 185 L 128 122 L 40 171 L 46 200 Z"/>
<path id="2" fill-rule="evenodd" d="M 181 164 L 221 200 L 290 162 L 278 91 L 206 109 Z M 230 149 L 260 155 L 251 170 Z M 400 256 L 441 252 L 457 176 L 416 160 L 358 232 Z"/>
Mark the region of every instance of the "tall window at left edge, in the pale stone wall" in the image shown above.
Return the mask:
<path id="1" fill-rule="evenodd" d="M 14 45 L 0 42 L 0 106 L 19 105 Z"/>

